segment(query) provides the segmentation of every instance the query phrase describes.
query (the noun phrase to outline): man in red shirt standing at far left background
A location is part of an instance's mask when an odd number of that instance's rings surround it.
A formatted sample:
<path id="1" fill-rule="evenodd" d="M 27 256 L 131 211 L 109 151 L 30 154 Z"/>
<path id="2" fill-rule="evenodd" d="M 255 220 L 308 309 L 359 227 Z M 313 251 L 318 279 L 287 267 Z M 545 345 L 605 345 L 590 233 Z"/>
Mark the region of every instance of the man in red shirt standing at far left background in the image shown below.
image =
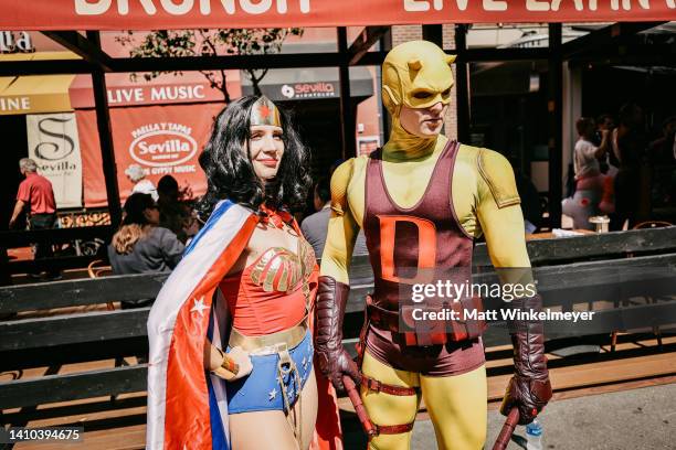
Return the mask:
<path id="1" fill-rule="evenodd" d="M 19 184 L 17 204 L 10 219 L 9 227 L 12 228 L 24 208 L 29 212 L 30 229 L 53 228 L 56 223 L 56 202 L 52 183 L 44 176 L 38 174 L 38 164 L 30 158 L 19 161 L 21 174 L 25 180 Z M 54 256 L 52 246 L 49 244 L 35 244 L 35 259 Z M 49 270 L 51 278 L 60 276 L 57 270 Z"/>

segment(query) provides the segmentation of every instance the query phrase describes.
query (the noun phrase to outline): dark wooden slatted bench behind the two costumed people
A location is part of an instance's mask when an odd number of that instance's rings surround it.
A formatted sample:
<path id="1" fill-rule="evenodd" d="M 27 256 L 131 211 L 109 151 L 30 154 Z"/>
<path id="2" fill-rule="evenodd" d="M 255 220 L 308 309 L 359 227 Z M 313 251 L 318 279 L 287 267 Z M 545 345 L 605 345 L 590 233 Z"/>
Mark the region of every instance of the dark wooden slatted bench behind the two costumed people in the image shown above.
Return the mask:
<path id="1" fill-rule="evenodd" d="M 563 310 L 587 309 L 596 303 L 615 308 L 601 310 L 595 335 L 612 330 L 673 326 L 676 324 L 676 227 L 646 229 L 528 243 L 545 303 Z M 627 258 L 627 254 L 633 257 Z M 595 260 L 594 260 L 595 259 Z M 578 262 L 575 262 L 578 260 Z M 580 261 L 583 260 L 583 261 Z M 485 245 L 475 248 L 475 264 L 488 264 Z M 351 267 L 351 292 L 346 317 L 346 344 L 356 341 L 363 317 L 363 296 L 372 289 L 367 257 L 356 257 Z M 482 271 L 479 277 L 489 277 Z M 20 373 L 43 368 L 40 376 L 0 382 L 0 409 L 15 419 L 21 410 L 59 401 L 118 396 L 146 390 L 147 366 L 136 364 L 60 373 L 67 364 L 113 361 L 147 351 L 146 321 L 149 308 L 84 311 L 57 314 L 60 308 L 87 308 L 108 302 L 155 298 L 167 275 L 113 276 L 99 279 L 57 281 L 0 287 L 0 371 Z M 609 282 L 614 289 L 609 290 Z M 663 301 L 630 301 L 644 296 Z M 591 294 L 590 294 L 591 292 Z M 595 296 L 595 297 L 594 297 Z M 51 311 L 41 314 L 41 311 Z M 43 317 L 39 317 L 43 315 Z M 571 324 L 549 335 L 548 349 L 590 334 L 584 323 Z M 556 339 L 554 339 L 556 338 Z M 493 326 L 485 336 L 489 347 L 505 345 L 508 335 Z M 670 345 L 670 344 L 669 344 Z M 351 347 L 351 345 L 348 345 Z M 672 350 L 669 346 L 667 350 Z M 508 358 L 510 351 L 489 352 L 489 358 Z M 495 374 L 510 372 L 500 366 Z M 496 372 L 497 371 L 497 372 Z M 675 369 L 676 372 L 676 369 Z"/>

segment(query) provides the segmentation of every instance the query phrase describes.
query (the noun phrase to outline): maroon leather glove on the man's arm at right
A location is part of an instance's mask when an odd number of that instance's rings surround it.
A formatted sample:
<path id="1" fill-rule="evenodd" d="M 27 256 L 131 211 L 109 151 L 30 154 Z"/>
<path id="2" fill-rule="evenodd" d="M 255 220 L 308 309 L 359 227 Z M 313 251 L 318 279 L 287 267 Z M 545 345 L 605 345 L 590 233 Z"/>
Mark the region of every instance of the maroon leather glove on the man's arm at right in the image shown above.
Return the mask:
<path id="1" fill-rule="evenodd" d="M 540 311 L 540 296 L 514 300 L 511 308 Z M 511 321 L 508 323 L 514 345 L 515 374 L 509 381 L 500 413 L 507 416 L 511 408 L 519 409 L 519 425 L 530 424 L 551 398 L 551 384 L 545 357 L 545 333 L 541 321 Z"/>

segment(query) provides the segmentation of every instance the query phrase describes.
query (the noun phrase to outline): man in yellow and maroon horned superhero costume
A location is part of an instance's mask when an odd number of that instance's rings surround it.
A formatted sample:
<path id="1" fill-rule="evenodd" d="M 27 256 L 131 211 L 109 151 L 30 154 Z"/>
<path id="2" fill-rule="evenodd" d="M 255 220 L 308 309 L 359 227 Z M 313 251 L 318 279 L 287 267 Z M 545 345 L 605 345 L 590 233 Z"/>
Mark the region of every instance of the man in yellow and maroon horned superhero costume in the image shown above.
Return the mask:
<path id="1" fill-rule="evenodd" d="M 402 332 L 404 272 L 471 268 L 474 239 L 486 238 L 496 268 L 528 268 L 524 217 L 514 172 L 499 153 L 441 135 L 451 101 L 454 56 L 414 41 L 382 66 L 382 98 L 392 132 L 382 149 L 342 163 L 331 179 L 331 218 L 317 294 L 316 351 L 337 389 L 342 376 L 361 386 L 377 436 L 373 449 L 408 449 L 421 398 L 440 449 L 482 449 L 486 439 L 486 369 L 480 332 Z M 341 345 L 348 266 L 363 229 L 374 274 L 367 300 L 360 367 Z M 479 301 L 480 303 L 480 301 Z M 541 308 L 539 296 L 511 308 Z M 480 308 L 480 307 L 479 307 Z M 528 424 L 551 397 L 541 323 L 509 323 L 515 375 L 503 404 Z"/>

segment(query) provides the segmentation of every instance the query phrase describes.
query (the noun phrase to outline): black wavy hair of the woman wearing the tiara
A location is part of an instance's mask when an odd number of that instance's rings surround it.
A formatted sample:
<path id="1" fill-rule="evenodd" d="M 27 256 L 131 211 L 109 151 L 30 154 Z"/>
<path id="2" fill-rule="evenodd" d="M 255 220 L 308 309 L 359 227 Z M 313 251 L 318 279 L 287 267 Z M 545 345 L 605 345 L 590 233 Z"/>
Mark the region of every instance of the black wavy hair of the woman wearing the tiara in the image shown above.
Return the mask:
<path id="1" fill-rule="evenodd" d="M 246 96 L 228 105 L 216 117 L 209 142 L 200 154 L 200 165 L 207 173 L 207 193 L 198 204 L 200 216 L 209 217 L 220 200 L 258 210 L 265 203 L 271 208 L 289 212 L 305 207 L 311 185 L 309 151 L 300 142 L 288 115 L 279 107 L 284 133 L 284 154 L 277 176 L 263 185 L 251 163 L 249 139 L 251 108 L 260 96 Z"/>

